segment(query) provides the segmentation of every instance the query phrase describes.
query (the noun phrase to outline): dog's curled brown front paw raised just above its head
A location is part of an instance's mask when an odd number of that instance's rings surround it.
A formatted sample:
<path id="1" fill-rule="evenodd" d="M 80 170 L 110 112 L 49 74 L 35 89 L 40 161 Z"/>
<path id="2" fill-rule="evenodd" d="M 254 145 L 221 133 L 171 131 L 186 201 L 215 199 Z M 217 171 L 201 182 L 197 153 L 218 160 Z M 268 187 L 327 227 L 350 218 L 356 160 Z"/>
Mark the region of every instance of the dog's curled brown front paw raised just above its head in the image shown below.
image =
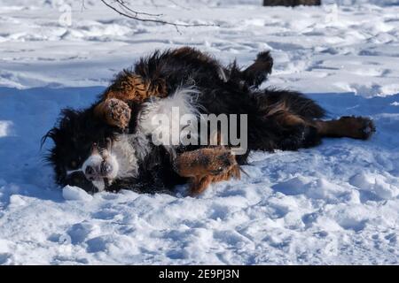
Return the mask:
<path id="1" fill-rule="evenodd" d="M 131 110 L 127 103 L 116 98 L 109 98 L 104 103 L 105 117 L 108 124 L 121 129 L 129 126 Z"/>

